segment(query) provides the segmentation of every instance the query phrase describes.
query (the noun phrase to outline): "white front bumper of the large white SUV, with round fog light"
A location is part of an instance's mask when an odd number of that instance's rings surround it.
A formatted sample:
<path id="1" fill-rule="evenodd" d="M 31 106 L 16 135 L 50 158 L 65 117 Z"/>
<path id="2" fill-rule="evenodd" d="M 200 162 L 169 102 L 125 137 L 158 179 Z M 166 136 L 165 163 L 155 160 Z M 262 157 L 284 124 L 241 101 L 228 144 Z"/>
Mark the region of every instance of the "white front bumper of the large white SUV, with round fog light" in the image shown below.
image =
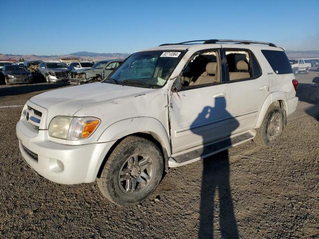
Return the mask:
<path id="1" fill-rule="evenodd" d="M 47 130 L 35 132 L 23 119 L 16 124 L 16 135 L 26 163 L 40 176 L 61 184 L 94 182 L 114 143 L 65 145 L 52 142 L 47 138 Z"/>

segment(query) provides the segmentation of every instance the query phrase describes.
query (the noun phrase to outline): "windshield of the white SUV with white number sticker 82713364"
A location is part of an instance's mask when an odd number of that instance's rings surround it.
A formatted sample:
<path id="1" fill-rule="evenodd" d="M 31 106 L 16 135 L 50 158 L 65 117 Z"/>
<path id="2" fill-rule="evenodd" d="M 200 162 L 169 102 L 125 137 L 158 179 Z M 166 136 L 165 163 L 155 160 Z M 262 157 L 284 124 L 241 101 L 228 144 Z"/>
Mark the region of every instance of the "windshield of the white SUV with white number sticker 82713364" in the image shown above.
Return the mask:
<path id="1" fill-rule="evenodd" d="M 130 56 L 107 82 L 144 87 L 161 87 L 175 69 L 180 51 L 145 51 Z M 113 81 L 112 81 L 113 80 Z"/>

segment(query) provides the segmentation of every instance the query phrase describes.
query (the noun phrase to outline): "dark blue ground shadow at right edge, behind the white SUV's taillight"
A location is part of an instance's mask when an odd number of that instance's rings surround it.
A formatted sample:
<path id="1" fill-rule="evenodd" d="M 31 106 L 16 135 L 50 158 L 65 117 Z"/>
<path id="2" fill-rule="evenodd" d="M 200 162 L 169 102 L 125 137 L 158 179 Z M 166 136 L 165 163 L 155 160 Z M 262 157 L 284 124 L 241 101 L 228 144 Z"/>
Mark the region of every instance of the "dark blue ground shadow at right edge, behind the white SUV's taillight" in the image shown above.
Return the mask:
<path id="1" fill-rule="evenodd" d="M 299 98 L 299 101 L 313 105 L 307 108 L 305 112 L 319 120 L 319 86 L 316 86 L 315 84 L 299 83 L 296 96 Z"/>

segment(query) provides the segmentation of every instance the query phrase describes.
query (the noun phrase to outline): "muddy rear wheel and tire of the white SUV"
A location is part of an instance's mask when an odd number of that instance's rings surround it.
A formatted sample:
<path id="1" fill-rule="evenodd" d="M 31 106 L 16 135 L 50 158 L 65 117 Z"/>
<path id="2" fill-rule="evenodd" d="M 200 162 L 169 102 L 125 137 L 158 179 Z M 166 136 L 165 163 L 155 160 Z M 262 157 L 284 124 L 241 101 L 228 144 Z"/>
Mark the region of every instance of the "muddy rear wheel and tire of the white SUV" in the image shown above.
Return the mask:
<path id="1" fill-rule="evenodd" d="M 278 143 L 284 129 L 285 116 L 285 110 L 278 106 L 270 106 L 260 128 L 257 129 L 254 142 L 262 147 L 270 147 Z"/>

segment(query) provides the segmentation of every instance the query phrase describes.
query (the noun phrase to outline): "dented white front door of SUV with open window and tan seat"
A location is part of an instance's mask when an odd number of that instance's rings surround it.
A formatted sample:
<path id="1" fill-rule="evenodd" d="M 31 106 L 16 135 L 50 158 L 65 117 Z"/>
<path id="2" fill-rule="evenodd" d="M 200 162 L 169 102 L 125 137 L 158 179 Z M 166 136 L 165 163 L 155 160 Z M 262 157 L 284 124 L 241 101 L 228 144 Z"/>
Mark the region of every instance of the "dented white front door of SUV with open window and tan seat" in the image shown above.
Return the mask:
<path id="1" fill-rule="evenodd" d="M 229 136 L 238 126 L 228 113 L 220 49 L 198 53 L 185 69 L 189 72 L 183 73 L 181 90 L 172 93 L 169 108 L 173 153 Z"/>

